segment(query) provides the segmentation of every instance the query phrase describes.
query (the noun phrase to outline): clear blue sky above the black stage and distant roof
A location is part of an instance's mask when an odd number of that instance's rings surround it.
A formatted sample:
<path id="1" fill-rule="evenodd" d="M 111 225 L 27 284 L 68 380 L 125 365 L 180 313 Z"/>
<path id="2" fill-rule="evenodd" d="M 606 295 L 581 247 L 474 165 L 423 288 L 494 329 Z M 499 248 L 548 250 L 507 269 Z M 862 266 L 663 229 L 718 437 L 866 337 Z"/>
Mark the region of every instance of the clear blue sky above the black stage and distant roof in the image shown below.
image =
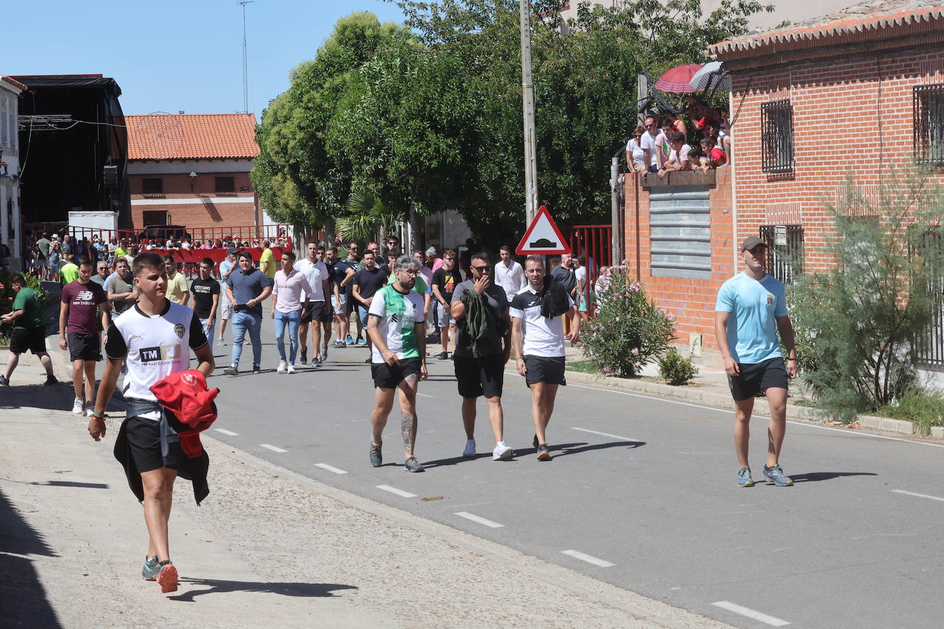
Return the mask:
<path id="1" fill-rule="evenodd" d="M 125 113 L 243 110 L 243 10 L 236 0 L 29 0 L 3 3 L 0 74 L 104 74 Z M 249 111 L 261 117 L 314 57 L 338 18 L 399 22 L 381 0 L 256 0 L 246 6 Z M 65 112 L 63 112 L 65 113 Z"/>

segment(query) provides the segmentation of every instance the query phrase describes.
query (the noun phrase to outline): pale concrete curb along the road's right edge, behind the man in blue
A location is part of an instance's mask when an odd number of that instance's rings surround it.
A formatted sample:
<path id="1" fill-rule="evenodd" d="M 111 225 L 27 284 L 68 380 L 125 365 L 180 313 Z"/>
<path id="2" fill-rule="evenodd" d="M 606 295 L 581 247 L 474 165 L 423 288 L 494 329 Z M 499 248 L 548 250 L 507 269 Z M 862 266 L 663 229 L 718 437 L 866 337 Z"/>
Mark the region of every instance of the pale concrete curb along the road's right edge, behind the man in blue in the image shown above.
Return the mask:
<path id="1" fill-rule="evenodd" d="M 730 409 L 732 407 L 731 396 L 726 393 L 717 393 L 715 391 L 697 388 L 673 387 L 672 385 L 663 385 L 657 382 L 615 378 L 612 376 L 599 375 L 597 373 L 571 372 L 569 370 L 565 373 L 567 381 L 576 384 L 594 385 L 603 389 L 616 389 L 631 393 L 643 393 L 646 395 L 685 400 L 686 402 L 698 402 L 719 408 Z M 793 420 L 817 423 L 826 422 L 830 419 L 826 411 L 793 404 L 786 405 L 786 416 Z M 858 417 L 858 424 L 860 428 L 881 430 L 883 432 L 895 433 L 906 437 L 916 436 L 914 424 L 903 420 L 860 415 Z M 933 426 L 931 428 L 931 437 L 934 439 L 944 439 L 944 427 Z"/>

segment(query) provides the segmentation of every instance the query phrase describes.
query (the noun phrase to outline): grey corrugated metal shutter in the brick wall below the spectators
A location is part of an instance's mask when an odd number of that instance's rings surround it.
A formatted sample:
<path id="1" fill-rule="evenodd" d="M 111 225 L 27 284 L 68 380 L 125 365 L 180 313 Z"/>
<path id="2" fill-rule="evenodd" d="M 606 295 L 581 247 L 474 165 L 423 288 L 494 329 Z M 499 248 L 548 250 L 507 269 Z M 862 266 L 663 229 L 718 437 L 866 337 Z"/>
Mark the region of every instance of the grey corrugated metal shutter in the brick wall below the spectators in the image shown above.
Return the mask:
<path id="1" fill-rule="evenodd" d="M 649 227 L 653 275 L 711 279 L 711 207 L 706 186 L 649 189 Z"/>

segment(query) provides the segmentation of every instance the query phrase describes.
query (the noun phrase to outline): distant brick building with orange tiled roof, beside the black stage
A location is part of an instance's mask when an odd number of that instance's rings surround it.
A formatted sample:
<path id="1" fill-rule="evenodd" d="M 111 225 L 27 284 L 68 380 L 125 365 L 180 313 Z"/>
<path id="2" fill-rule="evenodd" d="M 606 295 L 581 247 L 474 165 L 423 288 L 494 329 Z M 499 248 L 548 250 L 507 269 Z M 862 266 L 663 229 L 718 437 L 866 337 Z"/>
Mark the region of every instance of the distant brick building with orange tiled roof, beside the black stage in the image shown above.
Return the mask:
<path id="1" fill-rule="evenodd" d="M 125 116 L 133 227 L 261 224 L 251 113 Z"/>

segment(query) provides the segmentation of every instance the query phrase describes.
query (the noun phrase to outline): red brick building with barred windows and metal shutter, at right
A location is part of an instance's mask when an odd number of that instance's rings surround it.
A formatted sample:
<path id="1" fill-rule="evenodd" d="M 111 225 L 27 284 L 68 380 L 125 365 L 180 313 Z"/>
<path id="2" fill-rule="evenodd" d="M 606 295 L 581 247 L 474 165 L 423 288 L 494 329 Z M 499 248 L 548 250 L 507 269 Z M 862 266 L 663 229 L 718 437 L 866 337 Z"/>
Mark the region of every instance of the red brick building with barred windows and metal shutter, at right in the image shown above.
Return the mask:
<path id="1" fill-rule="evenodd" d="M 824 202 L 848 172 L 877 199 L 892 167 L 944 165 L 944 4 L 866 2 L 709 52 L 732 76 L 733 167 L 627 176 L 624 224 L 632 270 L 713 363 L 715 295 L 742 240 L 767 240 L 789 283 L 830 263 Z"/>

